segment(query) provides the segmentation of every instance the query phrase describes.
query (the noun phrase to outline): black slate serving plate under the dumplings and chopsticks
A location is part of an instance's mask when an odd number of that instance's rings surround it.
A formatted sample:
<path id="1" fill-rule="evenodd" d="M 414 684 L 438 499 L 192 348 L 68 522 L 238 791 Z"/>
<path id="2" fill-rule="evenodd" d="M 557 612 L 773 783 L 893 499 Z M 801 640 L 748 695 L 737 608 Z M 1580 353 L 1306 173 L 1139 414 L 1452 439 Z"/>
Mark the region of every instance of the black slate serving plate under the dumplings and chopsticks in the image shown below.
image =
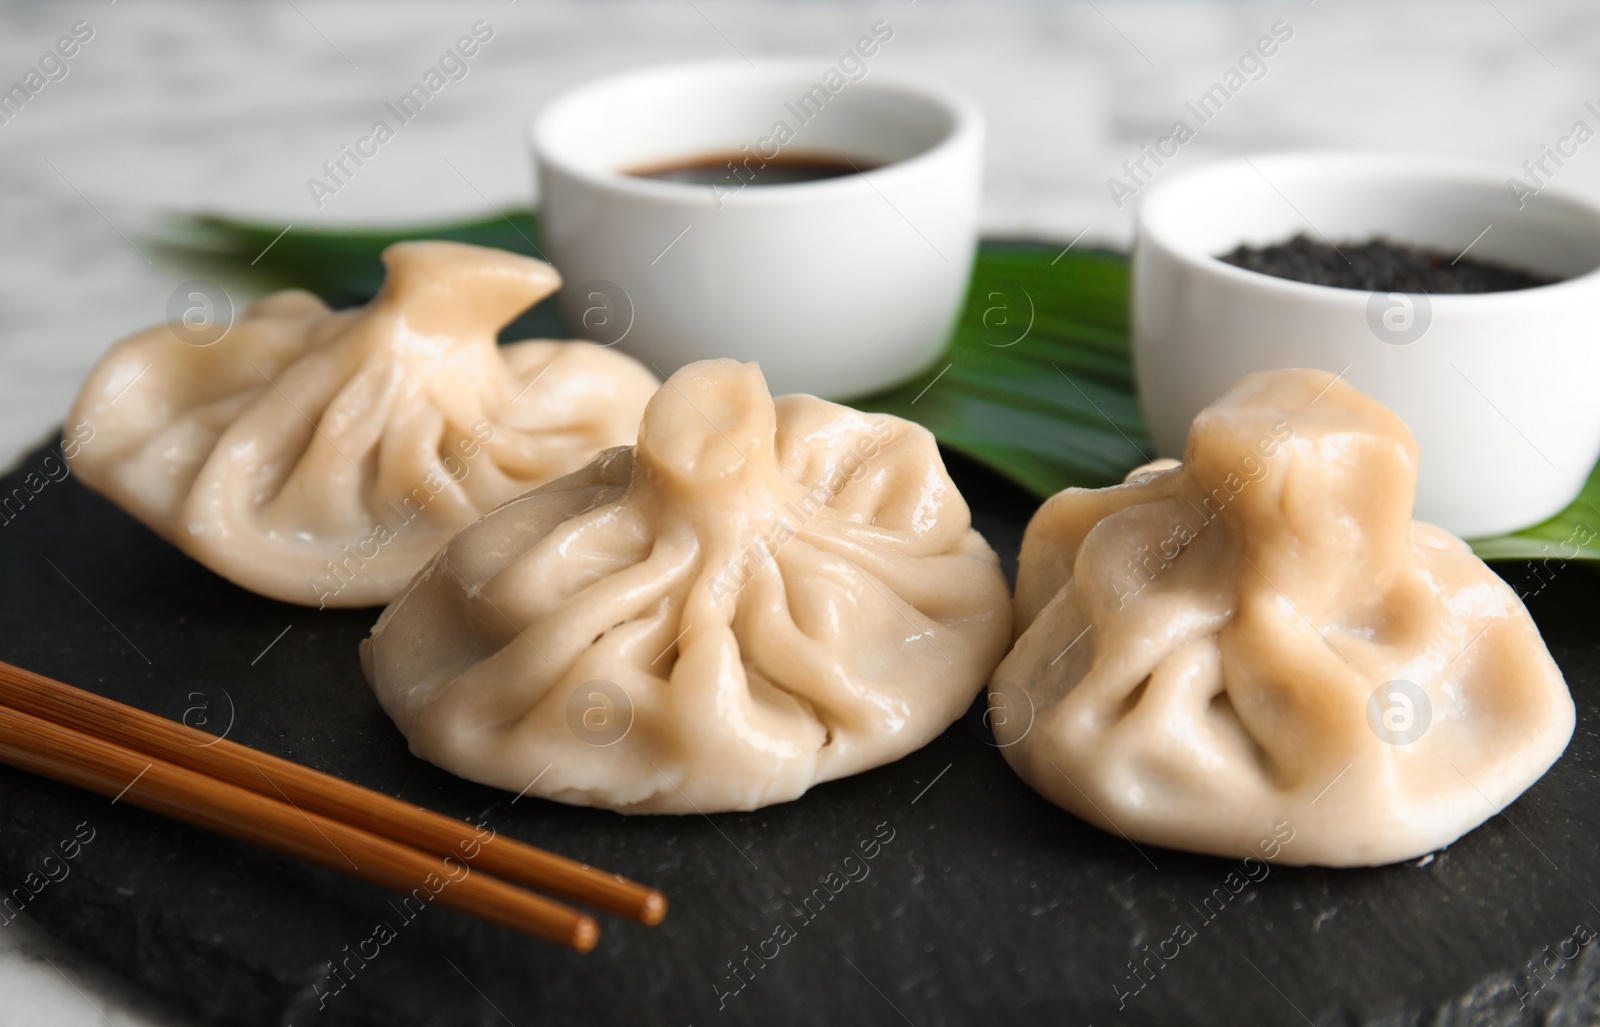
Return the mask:
<path id="1" fill-rule="evenodd" d="M 1011 569 L 1035 502 L 947 459 Z M 1578 699 L 1544 781 L 1432 857 L 1274 867 L 1232 894 L 1237 861 L 1141 854 L 1040 800 L 976 710 L 893 766 L 757 813 L 514 803 L 406 753 L 357 664 L 376 611 L 251 595 L 51 474 L 40 451 L 0 488 L 0 656 L 672 899 L 662 926 L 606 918 L 578 957 L 442 907 L 408 920 L 373 886 L 0 768 L 11 907 L 211 1022 L 1600 1022 L 1600 945 L 1584 944 L 1600 928 L 1600 592 L 1584 569 L 1544 569 L 1530 597 Z M 374 947 L 379 925 L 394 939 Z M 1195 937 L 1163 961 L 1179 925 Z"/>

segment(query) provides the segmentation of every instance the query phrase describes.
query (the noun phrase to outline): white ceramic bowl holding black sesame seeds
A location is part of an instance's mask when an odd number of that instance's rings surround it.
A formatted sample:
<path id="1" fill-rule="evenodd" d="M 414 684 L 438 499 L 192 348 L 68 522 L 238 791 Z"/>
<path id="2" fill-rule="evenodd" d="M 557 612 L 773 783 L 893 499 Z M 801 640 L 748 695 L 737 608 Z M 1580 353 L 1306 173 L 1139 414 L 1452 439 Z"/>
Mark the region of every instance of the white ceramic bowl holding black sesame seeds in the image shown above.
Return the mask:
<path id="1" fill-rule="evenodd" d="M 1493 227 L 1490 227 L 1493 226 Z M 1485 232 L 1485 229 L 1488 229 Z M 1403 296 L 1304 285 L 1216 259 L 1299 232 L 1501 261 L 1555 285 Z M 1474 242 L 1477 240 L 1477 242 Z M 1238 378 L 1323 368 L 1405 418 L 1416 515 L 1464 537 L 1562 510 L 1600 456 L 1600 206 L 1504 168 L 1394 154 L 1227 160 L 1152 187 L 1133 258 L 1133 355 L 1157 450 Z"/>

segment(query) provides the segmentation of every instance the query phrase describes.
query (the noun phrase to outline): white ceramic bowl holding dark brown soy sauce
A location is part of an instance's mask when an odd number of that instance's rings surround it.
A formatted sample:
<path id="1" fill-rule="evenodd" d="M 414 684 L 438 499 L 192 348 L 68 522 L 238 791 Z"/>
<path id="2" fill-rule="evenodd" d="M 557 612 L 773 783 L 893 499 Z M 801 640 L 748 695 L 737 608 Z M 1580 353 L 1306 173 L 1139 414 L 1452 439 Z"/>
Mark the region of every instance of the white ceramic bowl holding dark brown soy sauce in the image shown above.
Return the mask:
<path id="1" fill-rule="evenodd" d="M 715 62 L 629 72 L 550 102 L 531 142 L 568 323 L 664 374 L 706 357 L 758 360 L 773 392 L 848 398 L 926 368 L 978 243 L 982 117 L 950 90 L 864 66 L 832 94 L 827 61 Z M 805 94 L 816 99 L 802 110 Z M 782 146 L 779 122 L 794 133 Z M 624 173 L 763 139 L 768 154 L 882 166 L 731 194 Z"/>

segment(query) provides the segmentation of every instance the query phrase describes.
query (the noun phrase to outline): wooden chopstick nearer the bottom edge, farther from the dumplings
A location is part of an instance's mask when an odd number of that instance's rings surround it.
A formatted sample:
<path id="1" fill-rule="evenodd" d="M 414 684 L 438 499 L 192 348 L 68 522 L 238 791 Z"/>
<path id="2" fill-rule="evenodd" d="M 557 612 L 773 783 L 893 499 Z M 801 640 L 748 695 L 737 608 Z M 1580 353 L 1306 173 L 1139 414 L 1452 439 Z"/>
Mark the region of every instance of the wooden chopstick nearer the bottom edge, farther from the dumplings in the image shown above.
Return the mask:
<path id="1" fill-rule="evenodd" d="M 389 838 L 5 705 L 0 705 L 0 760 L 578 952 L 589 952 L 600 937 L 594 917 L 472 873 L 459 859 L 451 867 Z"/>

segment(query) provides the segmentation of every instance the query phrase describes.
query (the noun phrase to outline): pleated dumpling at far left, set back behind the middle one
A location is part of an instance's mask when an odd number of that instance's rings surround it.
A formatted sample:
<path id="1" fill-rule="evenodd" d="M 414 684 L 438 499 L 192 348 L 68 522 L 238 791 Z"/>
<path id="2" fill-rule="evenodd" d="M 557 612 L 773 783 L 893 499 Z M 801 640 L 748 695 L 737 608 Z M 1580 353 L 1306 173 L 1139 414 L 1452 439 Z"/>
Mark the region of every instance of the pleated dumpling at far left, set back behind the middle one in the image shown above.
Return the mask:
<path id="1" fill-rule="evenodd" d="M 290 603 L 373 606 L 459 528 L 634 440 L 659 384 L 589 342 L 496 346 L 560 286 L 549 264 L 445 242 L 384 251 L 358 310 L 310 293 L 221 341 L 115 344 L 69 424 L 72 469 L 218 574 Z"/>

